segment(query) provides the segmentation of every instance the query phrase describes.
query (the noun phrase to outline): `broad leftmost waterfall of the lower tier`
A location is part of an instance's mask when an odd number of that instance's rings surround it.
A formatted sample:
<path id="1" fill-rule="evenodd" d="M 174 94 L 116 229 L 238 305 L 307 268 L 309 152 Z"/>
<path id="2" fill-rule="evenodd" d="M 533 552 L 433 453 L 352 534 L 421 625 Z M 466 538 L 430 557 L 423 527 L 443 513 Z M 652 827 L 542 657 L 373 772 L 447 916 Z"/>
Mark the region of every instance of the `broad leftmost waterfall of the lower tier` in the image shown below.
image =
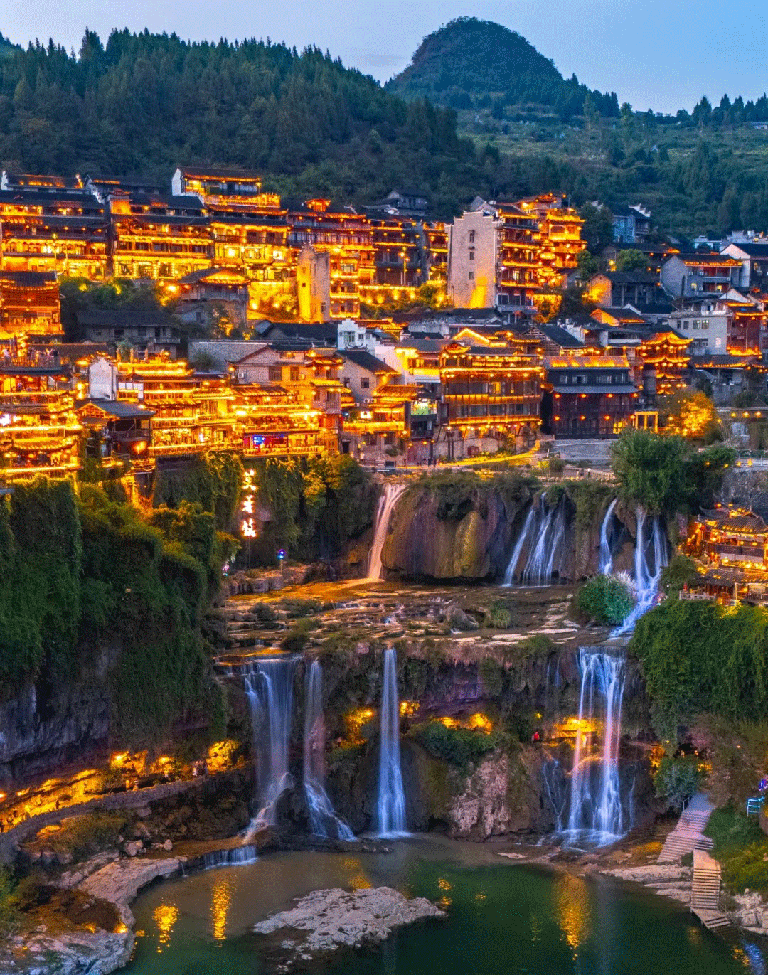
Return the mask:
<path id="1" fill-rule="evenodd" d="M 289 753 L 295 667 L 295 657 L 259 660 L 245 675 L 259 802 L 250 832 L 275 825 L 277 800 L 292 785 Z"/>

